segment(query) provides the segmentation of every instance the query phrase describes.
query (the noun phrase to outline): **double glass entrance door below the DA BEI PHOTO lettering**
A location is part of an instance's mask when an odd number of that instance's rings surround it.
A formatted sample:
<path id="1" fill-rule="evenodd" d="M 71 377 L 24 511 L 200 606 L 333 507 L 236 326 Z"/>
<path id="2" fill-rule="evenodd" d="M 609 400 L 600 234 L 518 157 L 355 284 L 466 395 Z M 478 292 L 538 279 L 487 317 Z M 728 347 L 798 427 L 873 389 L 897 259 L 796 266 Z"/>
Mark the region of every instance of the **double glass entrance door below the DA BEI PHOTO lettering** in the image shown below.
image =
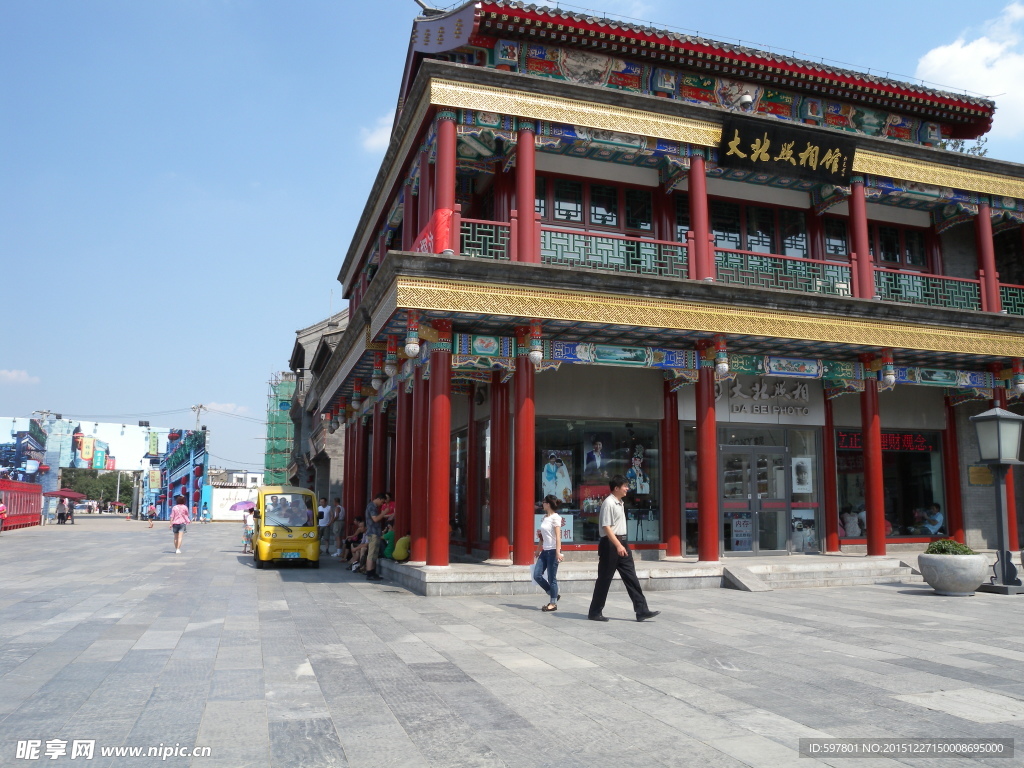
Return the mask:
<path id="1" fill-rule="evenodd" d="M 720 456 L 724 552 L 788 552 L 788 451 L 766 445 L 723 445 Z"/>

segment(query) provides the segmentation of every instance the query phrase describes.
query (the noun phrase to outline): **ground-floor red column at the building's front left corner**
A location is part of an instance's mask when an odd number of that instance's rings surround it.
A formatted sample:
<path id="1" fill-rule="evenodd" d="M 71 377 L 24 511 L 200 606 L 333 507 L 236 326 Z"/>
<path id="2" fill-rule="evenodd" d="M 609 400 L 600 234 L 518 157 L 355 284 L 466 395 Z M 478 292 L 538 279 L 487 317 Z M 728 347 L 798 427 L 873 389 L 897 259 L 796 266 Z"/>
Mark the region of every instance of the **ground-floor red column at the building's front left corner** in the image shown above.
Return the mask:
<path id="1" fill-rule="evenodd" d="M 434 321 L 430 345 L 430 476 L 427 478 L 427 565 L 449 564 L 449 481 L 452 469 L 452 323 Z"/>

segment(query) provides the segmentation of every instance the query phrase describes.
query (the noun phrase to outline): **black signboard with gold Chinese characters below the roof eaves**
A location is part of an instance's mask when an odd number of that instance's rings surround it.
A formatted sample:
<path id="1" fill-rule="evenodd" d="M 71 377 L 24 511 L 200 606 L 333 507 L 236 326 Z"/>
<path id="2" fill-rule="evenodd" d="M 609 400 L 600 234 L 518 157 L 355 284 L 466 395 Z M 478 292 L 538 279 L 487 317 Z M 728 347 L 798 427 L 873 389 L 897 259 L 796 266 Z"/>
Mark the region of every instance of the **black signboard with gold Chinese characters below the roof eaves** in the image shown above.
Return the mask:
<path id="1" fill-rule="evenodd" d="M 718 164 L 840 184 L 850 180 L 855 148 L 839 132 L 731 115 L 722 126 Z"/>

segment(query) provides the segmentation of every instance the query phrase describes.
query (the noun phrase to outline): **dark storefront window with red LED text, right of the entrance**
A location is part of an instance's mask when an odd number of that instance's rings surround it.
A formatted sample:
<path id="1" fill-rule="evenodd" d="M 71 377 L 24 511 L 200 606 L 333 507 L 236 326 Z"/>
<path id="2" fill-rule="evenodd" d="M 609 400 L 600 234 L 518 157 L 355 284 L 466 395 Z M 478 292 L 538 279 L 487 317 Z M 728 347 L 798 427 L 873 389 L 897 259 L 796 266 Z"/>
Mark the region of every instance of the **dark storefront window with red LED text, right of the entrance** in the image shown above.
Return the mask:
<path id="1" fill-rule="evenodd" d="M 859 431 L 838 430 L 840 536 L 866 536 L 864 460 Z M 887 537 L 946 536 L 942 441 L 937 432 L 884 432 L 882 470 Z"/>

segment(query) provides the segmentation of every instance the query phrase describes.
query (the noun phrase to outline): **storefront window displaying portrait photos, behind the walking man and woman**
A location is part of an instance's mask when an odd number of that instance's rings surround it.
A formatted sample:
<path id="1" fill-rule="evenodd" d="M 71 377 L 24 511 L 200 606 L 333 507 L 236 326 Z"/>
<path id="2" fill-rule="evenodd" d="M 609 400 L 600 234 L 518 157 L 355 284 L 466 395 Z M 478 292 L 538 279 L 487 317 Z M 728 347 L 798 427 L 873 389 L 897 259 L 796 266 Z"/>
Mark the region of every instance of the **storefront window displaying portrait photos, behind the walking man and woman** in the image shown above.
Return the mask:
<path id="1" fill-rule="evenodd" d="M 662 540 L 662 467 L 656 422 L 537 420 L 537 499 L 562 500 L 566 544 L 596 544 L 598 512 L 608 480 L 621 474 L 631 542 Z"/>

